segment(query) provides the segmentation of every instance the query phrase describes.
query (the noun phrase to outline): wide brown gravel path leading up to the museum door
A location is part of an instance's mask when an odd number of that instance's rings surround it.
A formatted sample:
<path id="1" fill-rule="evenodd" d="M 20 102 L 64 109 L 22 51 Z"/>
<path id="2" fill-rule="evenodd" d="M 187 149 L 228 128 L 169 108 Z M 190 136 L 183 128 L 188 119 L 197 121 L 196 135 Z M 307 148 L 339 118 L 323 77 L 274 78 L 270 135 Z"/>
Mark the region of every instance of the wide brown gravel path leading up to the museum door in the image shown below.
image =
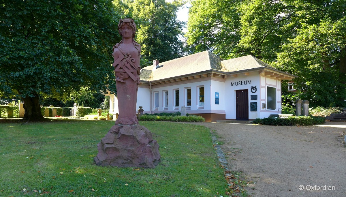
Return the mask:
<path id="1" fill-rule="evenodd" d="M 194 124 L 209 127 L 224 142 L 221 149 L 230 169 L 255 182 L 246 188 L 251 196 L 346 196 L 345 122 L 302 127 Z"/>

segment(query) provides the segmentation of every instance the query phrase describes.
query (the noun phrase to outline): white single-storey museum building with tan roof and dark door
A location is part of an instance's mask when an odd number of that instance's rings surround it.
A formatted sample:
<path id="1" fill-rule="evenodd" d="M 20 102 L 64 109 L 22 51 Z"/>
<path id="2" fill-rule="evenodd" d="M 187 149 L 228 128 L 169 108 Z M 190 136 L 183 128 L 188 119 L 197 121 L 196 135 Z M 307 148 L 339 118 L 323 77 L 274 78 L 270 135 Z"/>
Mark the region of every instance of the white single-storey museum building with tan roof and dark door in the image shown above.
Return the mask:
<path id="1" fill-rule="evenodd" d="M 203 51 L 140 70 L 137 107 L 144 113 L 186 113 L 216 120 L 254 120 L 281 114 L 281 84 L 297 76 L 272 68 L 252 55 L 222 60 Z M 115 95 L 110 113 L 118 113 Z M 137 112 L 137 111 L 136 111 Z"/>

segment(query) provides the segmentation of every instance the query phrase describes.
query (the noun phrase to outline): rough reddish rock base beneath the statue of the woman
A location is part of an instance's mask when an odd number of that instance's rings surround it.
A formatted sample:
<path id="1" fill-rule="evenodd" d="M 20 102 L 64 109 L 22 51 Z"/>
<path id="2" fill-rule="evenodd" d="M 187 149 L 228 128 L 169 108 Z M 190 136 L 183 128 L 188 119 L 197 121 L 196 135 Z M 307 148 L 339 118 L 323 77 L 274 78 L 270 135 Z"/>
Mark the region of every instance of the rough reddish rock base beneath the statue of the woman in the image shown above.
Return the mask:
<path id="1" fill-rule="evenodd" d="M 142 125 L 114 125 L 97 145 L 96 165 L 155 168 L 161 156 L 152 133 Z"/>

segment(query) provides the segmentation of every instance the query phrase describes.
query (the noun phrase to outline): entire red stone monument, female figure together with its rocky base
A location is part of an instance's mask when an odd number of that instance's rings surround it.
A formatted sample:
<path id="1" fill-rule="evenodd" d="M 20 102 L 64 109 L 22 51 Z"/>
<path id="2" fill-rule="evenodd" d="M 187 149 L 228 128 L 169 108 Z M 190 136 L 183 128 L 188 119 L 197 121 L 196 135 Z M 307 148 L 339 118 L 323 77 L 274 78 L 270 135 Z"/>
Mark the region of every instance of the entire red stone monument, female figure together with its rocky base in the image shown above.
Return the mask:
<path id="1" fill-rule="evenodd" d="M 97 145 L 96 165 L 155 168 L 161 158 L 152 133 L 138 125 L 136 116 L 137 90 L 140 74 L 140 45 L 134 40 L 133 19 L 120 19 L 122 39 L 113 46 L 112 64 L 115 68 L 119 116 L 115 125 Z"/>

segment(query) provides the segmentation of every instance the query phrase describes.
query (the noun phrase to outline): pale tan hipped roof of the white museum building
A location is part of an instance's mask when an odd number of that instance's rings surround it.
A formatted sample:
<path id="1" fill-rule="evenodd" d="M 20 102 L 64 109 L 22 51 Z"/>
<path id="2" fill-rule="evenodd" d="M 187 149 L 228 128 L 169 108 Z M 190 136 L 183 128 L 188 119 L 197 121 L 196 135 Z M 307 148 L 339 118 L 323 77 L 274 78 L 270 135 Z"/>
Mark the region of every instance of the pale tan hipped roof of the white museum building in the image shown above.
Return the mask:
<path id="1" fill-rule="evenodd" d="M 154 65 L 146 66 L 141 70 L 140 79 L 144 81 L 158 81 L 203 71 L 214 70 L 229 73 L 244 70 L 246 72 L 248 69 L 260 69 L 261 67 L 263 69 L 272 68 L 252 55 L 222 60 L 219 56 L 209 51 L 203 51 L 174 60 L 160 62 L 155 69 Z"/>

